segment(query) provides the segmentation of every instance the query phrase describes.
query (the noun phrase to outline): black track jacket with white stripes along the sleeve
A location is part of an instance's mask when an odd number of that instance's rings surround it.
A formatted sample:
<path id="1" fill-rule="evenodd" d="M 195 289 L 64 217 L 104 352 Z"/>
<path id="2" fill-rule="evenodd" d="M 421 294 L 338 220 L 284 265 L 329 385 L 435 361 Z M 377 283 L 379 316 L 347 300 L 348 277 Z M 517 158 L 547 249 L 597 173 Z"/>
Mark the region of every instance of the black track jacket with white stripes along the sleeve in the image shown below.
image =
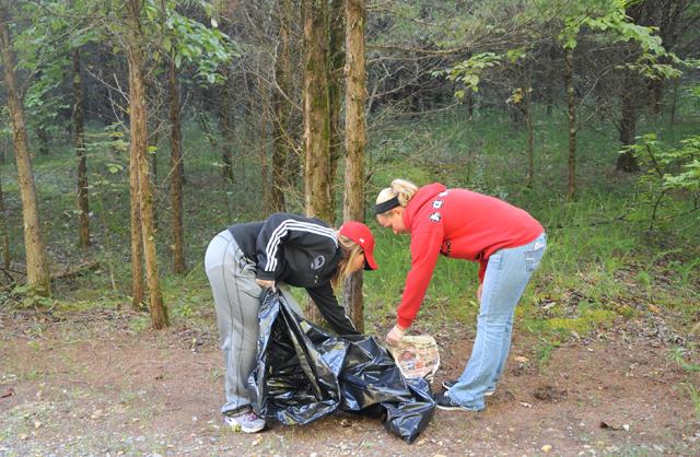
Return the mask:
<path id="1" fill-rule="evenodd" d="M 262 222 L 229 227 L 245 256 L 257 263 L 257 278 L 306 289 L 339 335 L 358 335 L 330 285 L 342 251 L 336 232 L 323 221 L 275 213 Z"/>

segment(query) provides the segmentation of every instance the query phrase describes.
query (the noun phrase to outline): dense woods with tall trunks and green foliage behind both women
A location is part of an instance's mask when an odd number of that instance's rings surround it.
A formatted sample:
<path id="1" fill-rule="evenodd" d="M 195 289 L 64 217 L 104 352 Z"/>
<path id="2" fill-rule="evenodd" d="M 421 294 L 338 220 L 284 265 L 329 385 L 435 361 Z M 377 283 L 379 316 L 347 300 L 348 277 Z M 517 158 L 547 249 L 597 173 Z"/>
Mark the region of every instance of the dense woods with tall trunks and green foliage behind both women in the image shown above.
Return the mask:
<path id="1" fill-rule="evenodd" d="M 504 198 L 548 231 L 603 225 L 599 258 L 676 261 L 692 286 L 699 24 L 692 0 L 0 0 L 0 300 L 128 296 L 162 328 L 228 224 L 290 211 L 377 233 L 394 177 Z M 587 261 L 585 239 L 550 255 Z M 405 272 L 398 251 L 380 238 L 384 271 Z M 384 279 L 371 302 L 396 301 Z M 345 290 L 360 327 L 362 282 Z"/>

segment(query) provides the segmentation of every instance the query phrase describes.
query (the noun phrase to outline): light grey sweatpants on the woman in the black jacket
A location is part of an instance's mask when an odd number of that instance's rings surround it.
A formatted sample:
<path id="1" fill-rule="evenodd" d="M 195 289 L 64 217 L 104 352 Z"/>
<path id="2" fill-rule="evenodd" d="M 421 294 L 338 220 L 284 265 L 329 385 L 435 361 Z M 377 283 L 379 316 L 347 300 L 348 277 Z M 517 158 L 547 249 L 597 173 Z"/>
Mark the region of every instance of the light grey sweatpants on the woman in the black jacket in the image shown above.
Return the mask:
<path id="1" fill-rule="evenodd" d="M 214 298 L 225 366 L 225 402 L 221 412 L 233 413 L 250 405 L 246 383 L 257 351 L 262 290 L 255 282 L 255 263 L 244 257 L 228 230 L 209 244 L 205 269 Z"/>

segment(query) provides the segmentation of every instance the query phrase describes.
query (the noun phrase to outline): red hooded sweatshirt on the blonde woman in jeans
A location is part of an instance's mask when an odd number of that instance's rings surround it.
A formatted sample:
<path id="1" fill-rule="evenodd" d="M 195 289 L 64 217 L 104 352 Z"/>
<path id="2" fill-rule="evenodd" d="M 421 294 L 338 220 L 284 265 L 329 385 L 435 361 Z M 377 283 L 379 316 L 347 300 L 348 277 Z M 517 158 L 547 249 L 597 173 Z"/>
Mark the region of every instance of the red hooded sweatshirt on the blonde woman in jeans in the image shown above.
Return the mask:
<path id="1" fill-rule="evenodd" d="M 532 215 L 503 200 L 439 183 L 421 187 L 404 212 L 411 234 L 411 269 L 397 309 L 408 328 L 418 314 L 440 254 L 480 262 L 483 281 L 491 254 L 537 238 L 544 228 Z"/>

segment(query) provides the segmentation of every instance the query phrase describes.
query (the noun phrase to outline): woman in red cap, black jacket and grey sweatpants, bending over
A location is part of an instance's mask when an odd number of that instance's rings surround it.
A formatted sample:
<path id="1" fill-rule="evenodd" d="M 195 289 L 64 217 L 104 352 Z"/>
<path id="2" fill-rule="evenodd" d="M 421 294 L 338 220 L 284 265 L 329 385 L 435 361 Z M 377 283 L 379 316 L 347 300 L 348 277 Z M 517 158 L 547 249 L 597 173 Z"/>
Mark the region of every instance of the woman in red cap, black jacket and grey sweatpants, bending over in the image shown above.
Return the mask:
<path id="1" fill-rule="evenodd" d="M 218 234 L 207 248 L 205 268 L 226 365 L 224 423 L 259 432 L 265 420 L 250 409 L 246 380 L 255 362 L 264 290 L 280 283 L 304 288 L 334 330 L 358 333 L 332 288 L 361 268 L 376 270 L 374 236 L 360 222 L 346 222 L 336 232 L 318 219 L 275 213 Z"/>

